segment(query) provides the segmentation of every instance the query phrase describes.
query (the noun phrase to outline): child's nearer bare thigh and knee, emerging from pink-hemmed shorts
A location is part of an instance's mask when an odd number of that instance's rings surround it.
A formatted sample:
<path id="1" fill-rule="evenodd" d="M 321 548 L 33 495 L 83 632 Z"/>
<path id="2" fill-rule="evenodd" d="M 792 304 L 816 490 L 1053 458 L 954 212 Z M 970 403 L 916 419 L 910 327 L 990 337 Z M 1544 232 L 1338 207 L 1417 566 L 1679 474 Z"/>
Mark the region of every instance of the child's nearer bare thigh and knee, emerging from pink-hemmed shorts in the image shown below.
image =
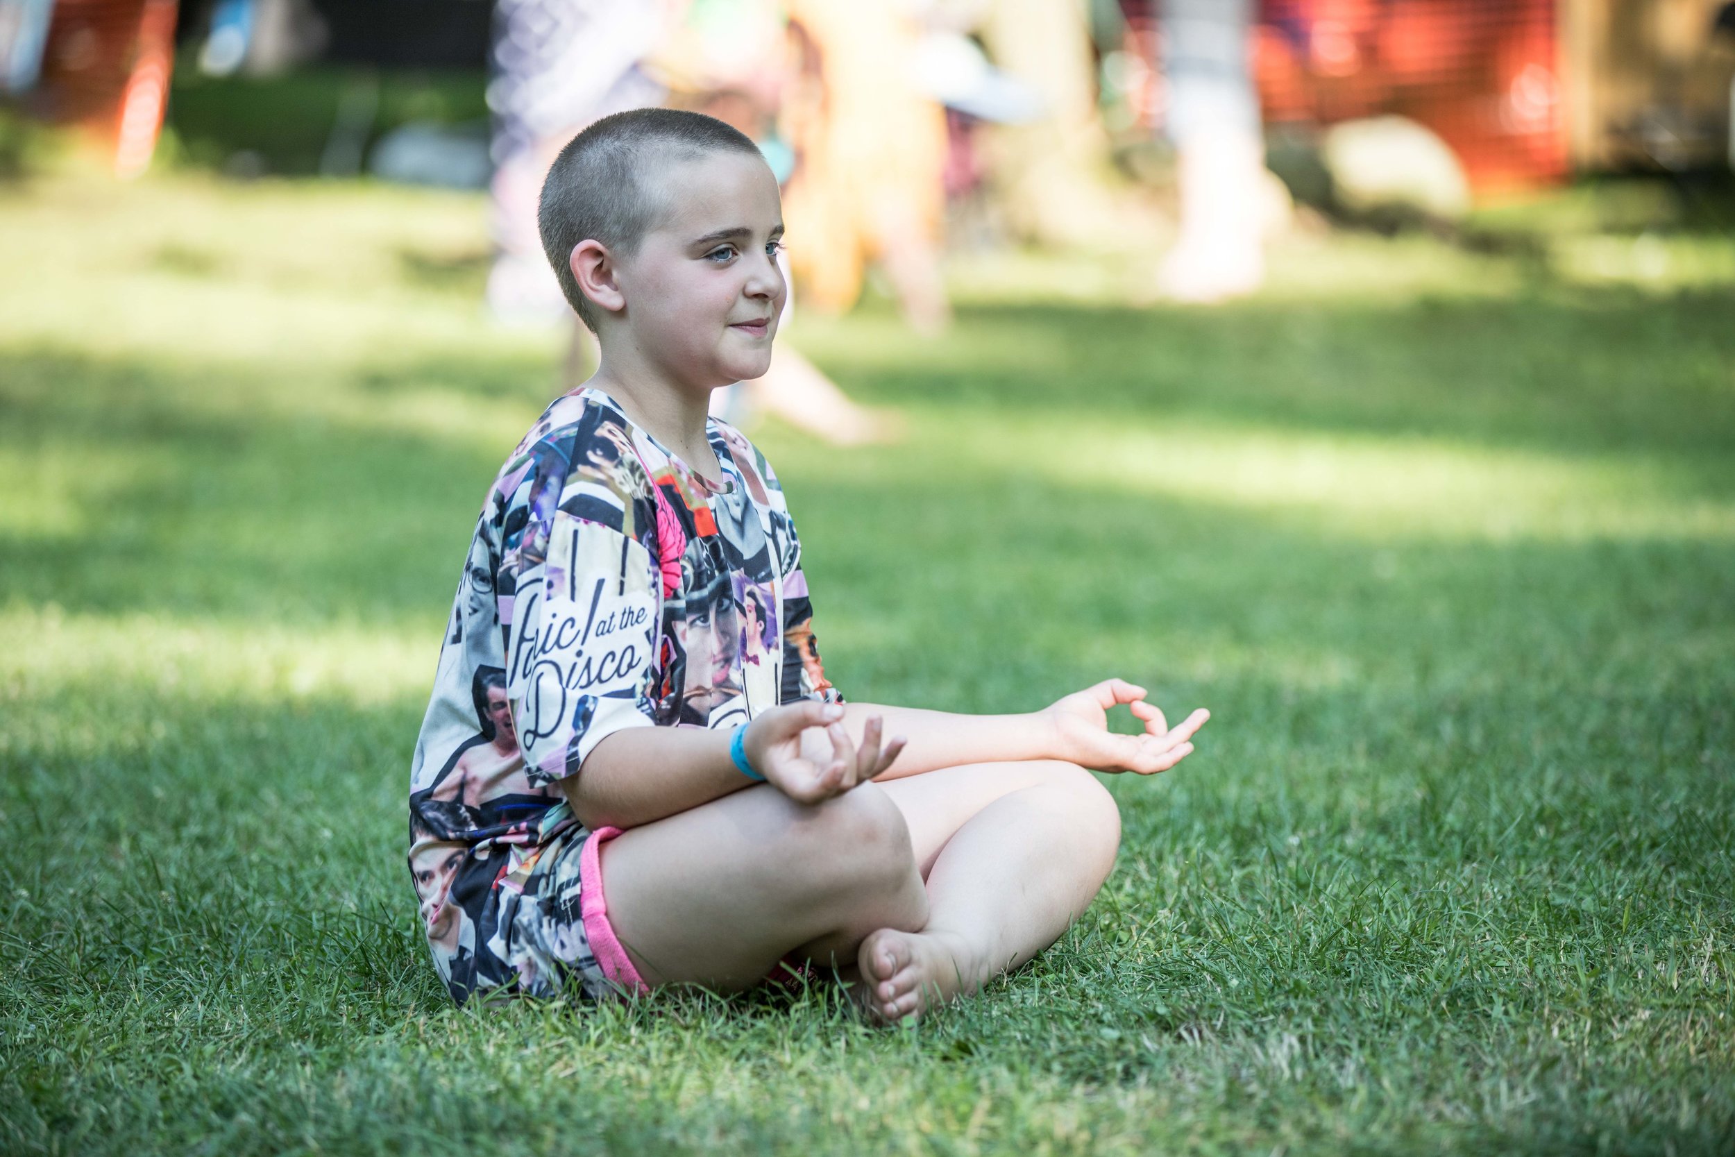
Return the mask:
<path id="1" fill-rule="evenodd" d="M 854 964 L 928 900 L 897 805 L 862 784 L 821 805 L 760 786 L 604 845 L 607 918 L 645 984 L 739 990 L 796 952 Z"/>

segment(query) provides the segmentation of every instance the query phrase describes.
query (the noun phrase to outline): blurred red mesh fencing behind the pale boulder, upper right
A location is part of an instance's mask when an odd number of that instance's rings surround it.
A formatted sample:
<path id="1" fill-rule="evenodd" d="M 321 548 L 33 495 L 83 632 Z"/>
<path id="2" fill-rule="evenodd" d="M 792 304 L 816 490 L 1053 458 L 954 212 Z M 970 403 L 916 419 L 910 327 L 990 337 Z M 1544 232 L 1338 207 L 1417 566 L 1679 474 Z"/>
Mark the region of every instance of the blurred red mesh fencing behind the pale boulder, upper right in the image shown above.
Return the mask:
<path id="1" fill-rule="evenodd" d="M 1267 121 L 1409 116 L 1478 194 L 1567 173 L 1555 0 L 1263 0 L 1253 52 Z"/>

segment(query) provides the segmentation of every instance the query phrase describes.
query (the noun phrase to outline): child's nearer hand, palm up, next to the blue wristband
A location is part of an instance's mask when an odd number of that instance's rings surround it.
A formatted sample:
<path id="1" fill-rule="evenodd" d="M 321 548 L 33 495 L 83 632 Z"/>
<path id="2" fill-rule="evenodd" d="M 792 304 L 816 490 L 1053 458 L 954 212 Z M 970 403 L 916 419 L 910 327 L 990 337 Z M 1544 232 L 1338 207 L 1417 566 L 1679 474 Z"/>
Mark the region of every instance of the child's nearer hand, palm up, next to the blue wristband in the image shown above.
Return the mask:
<path id="1" fill-rule="evenodd" d="M 741 746 L 765 782 L 798 803 L 821 803 L 892 767 L 904 739 L 881 746 L 881 727 L 880 716 L 871 716 L 857 748 L 840 704 L 803 699 L 758 715 Z"/>

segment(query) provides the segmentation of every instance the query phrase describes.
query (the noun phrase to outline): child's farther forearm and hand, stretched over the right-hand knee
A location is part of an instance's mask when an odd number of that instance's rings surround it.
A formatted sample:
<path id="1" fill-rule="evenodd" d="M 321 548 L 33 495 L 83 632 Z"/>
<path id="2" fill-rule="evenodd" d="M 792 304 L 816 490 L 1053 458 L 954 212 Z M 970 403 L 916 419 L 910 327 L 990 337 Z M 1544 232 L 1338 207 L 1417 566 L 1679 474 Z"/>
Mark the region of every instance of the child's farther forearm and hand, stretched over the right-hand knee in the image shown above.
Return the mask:
<path id="1" fill-rule="evenodd" d="M 1121 703 L 1143 720 L 1142 735 L 1109 730 L 1109 708 Z M 1201 708 L 1171 730 L 1162 711 L 1145 703 L 1143 687 L 1110 678 L 1027 715 L 953 715 L 864 703 L 845 708 L 852 735 L 862 734 L 869 718 L 881 718 L 887 730 L 907 741 L 880 779 L 1018 760 L 1067 760 L 1100 772 L 1150 775 L 1169 770 L 1194 749 L 1194 732 L 1211 713 Z"/>

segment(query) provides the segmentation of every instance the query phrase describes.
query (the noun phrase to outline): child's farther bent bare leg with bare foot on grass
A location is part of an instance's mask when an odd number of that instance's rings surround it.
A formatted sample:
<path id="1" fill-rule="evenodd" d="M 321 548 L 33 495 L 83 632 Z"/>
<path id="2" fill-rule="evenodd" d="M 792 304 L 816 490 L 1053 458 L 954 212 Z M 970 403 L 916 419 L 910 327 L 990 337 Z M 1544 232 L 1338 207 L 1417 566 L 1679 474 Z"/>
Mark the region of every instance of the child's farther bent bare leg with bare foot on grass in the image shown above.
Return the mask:
<path id="1" fill-rule="evenodd" d="M 880 786 L 904 812 L 928 890 L 920 931 L 878 930 L 857 956 L 869 1006 L 888 1020 L 1046 949 L 1114 867 L 1119 810 L 1070 763 L 975 763 Z"/>

